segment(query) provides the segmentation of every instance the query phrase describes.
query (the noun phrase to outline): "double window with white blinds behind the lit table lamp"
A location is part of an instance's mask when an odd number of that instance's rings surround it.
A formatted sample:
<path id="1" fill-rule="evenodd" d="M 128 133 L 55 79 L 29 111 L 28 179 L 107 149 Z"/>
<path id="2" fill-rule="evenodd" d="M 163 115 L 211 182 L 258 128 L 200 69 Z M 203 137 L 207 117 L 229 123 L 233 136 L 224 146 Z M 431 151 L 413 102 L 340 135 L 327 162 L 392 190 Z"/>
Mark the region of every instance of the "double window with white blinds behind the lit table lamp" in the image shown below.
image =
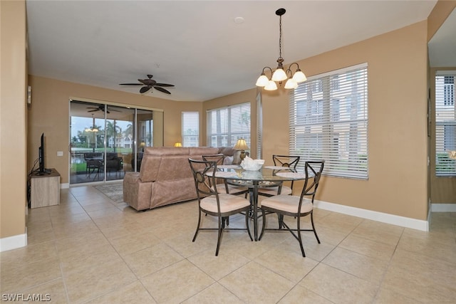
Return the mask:
<path id="1" fill-rule="evenodd" d="M 239 138 L 250 142 L 250 103 L 207 111 L 207 145 L 234 147 Z"/>

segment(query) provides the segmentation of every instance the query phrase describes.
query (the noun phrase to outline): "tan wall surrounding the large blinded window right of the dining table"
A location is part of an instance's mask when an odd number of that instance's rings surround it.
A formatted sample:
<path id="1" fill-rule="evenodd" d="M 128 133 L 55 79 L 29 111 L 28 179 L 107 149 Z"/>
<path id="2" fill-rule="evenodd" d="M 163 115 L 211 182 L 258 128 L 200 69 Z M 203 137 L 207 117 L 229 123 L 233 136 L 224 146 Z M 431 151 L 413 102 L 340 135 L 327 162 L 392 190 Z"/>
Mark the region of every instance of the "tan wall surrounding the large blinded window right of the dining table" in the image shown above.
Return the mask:
<path id="1" fill-rule="evenodd" d="M 318 199 L 425 220 L 427 22 L 308 58 L 299 65 L 311 76 L 365 62 L 369 179 L 326 177 Z M 253 100 L 254 90 L 246 93 Z M 239 103 L 237 97 L 230 95 L 212 103 Z M 270 161 L 272 154 L 289 151 L 289 95 L 284 89 L 264 91 L 262 99 L 263 158 Z"/>

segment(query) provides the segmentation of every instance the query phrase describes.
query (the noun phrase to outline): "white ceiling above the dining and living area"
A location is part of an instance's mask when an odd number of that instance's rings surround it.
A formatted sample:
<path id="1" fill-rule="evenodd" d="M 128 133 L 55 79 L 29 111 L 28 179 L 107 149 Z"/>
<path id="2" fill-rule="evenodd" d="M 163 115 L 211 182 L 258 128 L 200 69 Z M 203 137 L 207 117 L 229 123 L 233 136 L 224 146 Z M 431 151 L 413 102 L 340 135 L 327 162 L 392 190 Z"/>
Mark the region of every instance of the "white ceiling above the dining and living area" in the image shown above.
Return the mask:
<path id="1" fill-rule="evenodd" d="M 276 9 L 286 9 L 282 56 L 291 63 L 423 21 L 435 3 L 28 0 L 28 71 L 138 94 L 118 84 L 152 74 L 175 88 L 151 96 L 204 101 L 254 88 L 261 69 L 275 67 Z"/>

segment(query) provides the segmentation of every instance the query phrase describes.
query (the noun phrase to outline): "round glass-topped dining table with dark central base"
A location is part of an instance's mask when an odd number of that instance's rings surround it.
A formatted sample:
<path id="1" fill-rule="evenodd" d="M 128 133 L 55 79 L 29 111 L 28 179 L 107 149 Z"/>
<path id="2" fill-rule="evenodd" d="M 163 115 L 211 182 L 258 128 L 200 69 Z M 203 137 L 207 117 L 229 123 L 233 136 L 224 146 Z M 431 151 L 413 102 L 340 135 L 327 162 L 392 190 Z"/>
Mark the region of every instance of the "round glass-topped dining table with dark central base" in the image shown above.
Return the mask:
<path id="1" fill-rule="evenodd" d="M 228 184 L 249 189 L 251 215 L 254 221 L 254 239 L 258 241 L 258 190 L 280 187 L 282 182 L 306 179 L 306 174 L 294 172 L 289 167 L 265 166 L 257 171 L 244 170 L 237 165 L 217 166 L 215 177 L 226 179 Z"/>

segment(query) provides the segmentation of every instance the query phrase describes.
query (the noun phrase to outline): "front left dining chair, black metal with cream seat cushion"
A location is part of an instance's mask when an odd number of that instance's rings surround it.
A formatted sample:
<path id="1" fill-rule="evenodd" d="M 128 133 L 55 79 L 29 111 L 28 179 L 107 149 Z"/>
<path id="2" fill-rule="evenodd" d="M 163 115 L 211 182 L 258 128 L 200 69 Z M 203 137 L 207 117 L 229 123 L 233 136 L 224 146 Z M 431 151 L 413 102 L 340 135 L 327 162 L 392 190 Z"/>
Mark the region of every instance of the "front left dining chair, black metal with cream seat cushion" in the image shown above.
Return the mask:
<path id="1" fill-rule="evenodd" d="M 195 179 L 195 188 L 198 198 L 198 226 L 195 231 L 195 236 L 192 241 L 197 239 L 197 235 L 201 230 L 218 231 L 217 249 L 215 256 L 219 255 L 220 243 L 222 241 L 223 231 L 246 231 L 249 234 L 250 240 L 252 234 L 249 230 L 249 216 L 250 201 L 244 199 L 242 196 L 237 196 L 227 193 L 219 193 L 217 187 L 212 187 L 216 184 L 217 162 L 210 162 L 204 160 L 188 159 L 192 174 Z M 209 176 L 210 175 L 210 176 Z M 203 228 L 202 227 L 202 214 L 209 214 L 217 216 L 217 228 Z M 242 213 L 245 216 L 246 228 L 227 228 L 227 218 L 234 214 Z"/>

